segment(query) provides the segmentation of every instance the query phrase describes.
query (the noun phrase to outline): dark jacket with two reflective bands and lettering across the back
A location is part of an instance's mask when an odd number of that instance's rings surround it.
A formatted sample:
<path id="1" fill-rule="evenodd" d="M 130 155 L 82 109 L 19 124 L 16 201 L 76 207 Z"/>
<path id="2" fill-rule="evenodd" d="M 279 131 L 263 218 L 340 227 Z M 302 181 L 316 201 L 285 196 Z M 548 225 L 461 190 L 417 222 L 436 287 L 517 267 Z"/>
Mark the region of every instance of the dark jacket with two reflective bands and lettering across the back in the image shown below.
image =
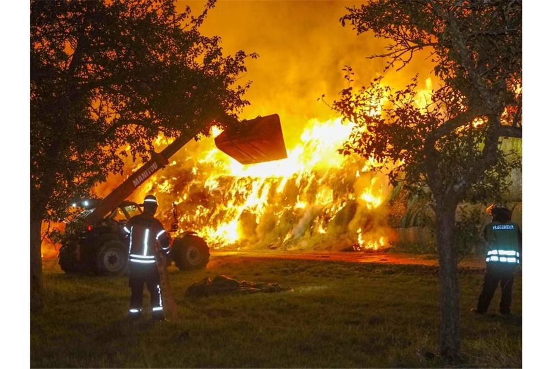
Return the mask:
<path id="1" fill-rule="evenodd" d="M 484 227 L 487 243 L 486 263 L 520 264 L 522 233 L 514 222 L 489 222 Z"/>

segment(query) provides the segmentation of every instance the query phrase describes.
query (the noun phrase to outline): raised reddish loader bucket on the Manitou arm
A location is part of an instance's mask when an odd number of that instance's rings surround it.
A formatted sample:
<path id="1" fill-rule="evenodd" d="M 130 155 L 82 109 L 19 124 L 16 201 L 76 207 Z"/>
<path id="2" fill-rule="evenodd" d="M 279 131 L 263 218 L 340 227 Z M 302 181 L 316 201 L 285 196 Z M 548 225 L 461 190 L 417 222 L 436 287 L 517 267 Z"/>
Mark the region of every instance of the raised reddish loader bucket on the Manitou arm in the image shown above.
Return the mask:
<path id="1" fill-rule="evenodd" d="M 239 122 L 215 137 L 215 145 L 241 164 L 288 157 L 278 114 Z"/>

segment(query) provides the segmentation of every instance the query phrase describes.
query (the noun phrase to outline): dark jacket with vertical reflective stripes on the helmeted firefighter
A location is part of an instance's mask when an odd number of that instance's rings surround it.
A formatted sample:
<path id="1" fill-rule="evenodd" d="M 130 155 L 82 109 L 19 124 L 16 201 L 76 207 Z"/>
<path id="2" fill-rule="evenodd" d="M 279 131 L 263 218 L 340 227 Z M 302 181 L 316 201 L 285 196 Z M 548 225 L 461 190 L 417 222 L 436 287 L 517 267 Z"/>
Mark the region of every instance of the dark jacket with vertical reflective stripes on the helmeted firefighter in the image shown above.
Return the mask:
<path id="1" fill-rule="evenodd" d="M 131 263 L 155 263 L 156 243 L 161 251 L 169 253 L 169 236 L 163 225 L 147 212 L 133 216 L 124 226 L 129 234 L 129 261 Z"/>

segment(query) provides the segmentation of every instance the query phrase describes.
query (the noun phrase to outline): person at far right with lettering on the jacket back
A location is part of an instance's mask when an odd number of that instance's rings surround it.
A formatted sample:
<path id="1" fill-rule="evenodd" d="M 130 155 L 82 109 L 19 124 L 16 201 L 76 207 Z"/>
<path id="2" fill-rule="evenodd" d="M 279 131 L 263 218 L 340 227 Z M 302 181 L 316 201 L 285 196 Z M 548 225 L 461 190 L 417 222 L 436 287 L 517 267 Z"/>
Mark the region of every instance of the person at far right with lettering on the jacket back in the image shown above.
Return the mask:
<path id="1" fill-rule="evenodd" d="M 492 301 L 495 288 L 501 287 L 499 313 L 510 314 L 511 291 L 514 272 L 522 260 L 522 232 L 511 221 L 511 212 L 503 204 L 494 204 L 486 209 L 492 215 L 492 221 L 484 227 L 486 240 L 486 274 L 478 306 L 474 313 L 484 314 Z"/>

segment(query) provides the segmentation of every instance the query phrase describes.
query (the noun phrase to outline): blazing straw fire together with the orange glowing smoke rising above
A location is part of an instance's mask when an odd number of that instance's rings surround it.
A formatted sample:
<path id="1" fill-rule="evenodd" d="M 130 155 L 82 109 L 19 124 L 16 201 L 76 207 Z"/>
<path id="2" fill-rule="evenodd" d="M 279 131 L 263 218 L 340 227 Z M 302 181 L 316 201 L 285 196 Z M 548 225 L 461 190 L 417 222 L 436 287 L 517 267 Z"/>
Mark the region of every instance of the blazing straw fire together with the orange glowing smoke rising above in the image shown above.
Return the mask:
<path id="1" fill-rule="evenodd" d="M 179 11 L 187 5 L 176 3 Z M 190 3 L 192 13 L 200 14 L 203 5 Z M 373 160 L 337 153 L 352 125 L 342 124 L 335 112 L 316 102 L 322 93 L 343 88 L 344 65 L 353 67 L 360 84 L 383 70 L 382 63 L 366 56 L 382 52 L 388 42 L 342 27 L 338 20 L 345 6 L 320 2 L 313 13 L 309 2 L 217 3 L 201 31 L 220 36 L 227 53 L 242 49 L 259 54 L 243 76 L 254 83 L 245 96 L 252 105 L 241 117 L 278 113 L 288 159 L 243 166 L 216 149 L 213 137 L 220 132 L 214 130 L 212 137 L 182 148 L 131 200 L 141 202 L 148 193 L 158 196 L 158 217 L 166 227 L 173 222 L 174 202 L 181 230 L 200 233 L 212 248 L 342 250 L 390 245 L 392 188 L 387 178 L 371 171 Z M 424 80 L 418 96 L 422 104 L 432 89 L 427 59 L 385 76 L 383 82 L 405 86 L 419 72 Z M 159 137 L 155 144 L 159 152 L 168 142 Z M 106 196 L 140 165 L 127 162 L 123 175 L 109 175 L 92 192 Z"/>

